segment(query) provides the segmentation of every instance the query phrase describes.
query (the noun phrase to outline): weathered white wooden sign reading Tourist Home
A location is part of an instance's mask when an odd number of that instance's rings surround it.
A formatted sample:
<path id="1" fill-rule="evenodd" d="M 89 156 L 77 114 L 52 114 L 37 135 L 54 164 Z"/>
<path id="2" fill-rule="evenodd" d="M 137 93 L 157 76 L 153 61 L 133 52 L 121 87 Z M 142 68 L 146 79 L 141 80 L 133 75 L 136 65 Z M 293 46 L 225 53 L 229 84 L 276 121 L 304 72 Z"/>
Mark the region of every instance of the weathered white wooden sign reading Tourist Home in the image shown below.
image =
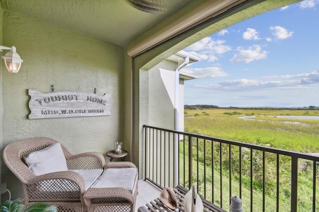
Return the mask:
<path id="1" fill-rule="evenodd" d="M 31 97 L 29 119 L 111 115 L 111 94 L 100 96 L 73 91 L 41 93 L 35 89 L 29 89 L 28 94 Z"/>

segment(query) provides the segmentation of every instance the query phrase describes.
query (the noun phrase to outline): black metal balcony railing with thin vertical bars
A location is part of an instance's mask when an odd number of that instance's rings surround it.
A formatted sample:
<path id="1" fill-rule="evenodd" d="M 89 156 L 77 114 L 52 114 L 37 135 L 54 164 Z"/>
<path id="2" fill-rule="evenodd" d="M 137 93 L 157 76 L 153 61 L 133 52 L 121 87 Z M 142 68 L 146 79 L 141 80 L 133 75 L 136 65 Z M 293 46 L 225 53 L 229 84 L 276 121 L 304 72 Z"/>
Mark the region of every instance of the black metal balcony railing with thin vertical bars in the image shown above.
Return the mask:
<path id="1" fill-rule="evenodd" d="M 319 156 L 144 125 L 145 179 L 189 188 L 229 209 L 318 212 Z"/>

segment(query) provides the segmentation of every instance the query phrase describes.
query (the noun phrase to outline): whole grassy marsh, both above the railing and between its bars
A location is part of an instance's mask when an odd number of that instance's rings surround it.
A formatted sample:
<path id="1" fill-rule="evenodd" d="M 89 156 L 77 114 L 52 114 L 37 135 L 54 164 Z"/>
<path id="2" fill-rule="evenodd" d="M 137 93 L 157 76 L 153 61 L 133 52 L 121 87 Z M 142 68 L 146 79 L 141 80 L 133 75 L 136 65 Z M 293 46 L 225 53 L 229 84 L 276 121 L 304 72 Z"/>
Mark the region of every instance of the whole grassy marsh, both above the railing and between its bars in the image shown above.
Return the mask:
<path id="1" fill-rule="evenodd" d="M 221 138 L 231 141 L 241 141 L 247 143 L 254 143 L 258 145 L 267 145 L 274 148 L 293 150 L 299 152 L 319 152 L 319 120 L 301 120 L 301 119 L 283 119 L 276 117 L 265 117 L 264 115 L 319 115 L 318 111 L 282 111 L 282 110 L 236 110 L 236 113 L 231 114 L 235 110 L 220 110 L 220 109 L 208 109 L 208 110 L 186 110 L 186 115 L 196 116 L 192 118 L 184 119 L 185 132 L 194 133 L 198 135 L 205 135 L 214 138 Z M 204 113 L 202 113 L 204 112 Z M 225 112 L 227 112 L 225 114 Z M 256 112 L 258 114 L 256 114 Z M 207 115 L 208 114 L 208 115 Z M 237 115 L 236 115 L 237 114 Z M 239 118 L 240 116 L 257 116 L 254 120 L 245 120 Z M 216 158 L 211 158 L 211 143 L 206 144 L 207 155 L 204 156 L 202 149 L 203 141 L 192 141 L 192 163 L 193 163 L 193 182 L 198 183 L 198 191 L 201 196 L 205 196 L 207 200 L 213 202 L 216 205 L 223 202 L 223 208 L 227 210 L 225 205 L 229 204 L 229 192 L 220 194 L 220 187 L 223 191 L 229 191 L 229 168 L 227 168 L 228 161 L 222 161 L 222 168 L 220 169 L 220 163 L 218 154 L 220 151 L 218 147 L 220 144 L 214 143 L 214 154 Z M 197 149 L 199 148 L 199 151 Z M 187 147 L 186 147 L 187 149 Z M 232 151 L 238 151 L 233 148 Z M 182 153 L 182 152 L 181 152 Z M 188 166 L 188 156 L 185 164 L 185 169 Z M 222 145 L 223 157 L 228 158 L 229 150 L 227 145 Z M 246 156 L 245 156 L 246 154 Z M 181 154 L 182 155 L 182 154 Z M 243 157 L 250 158 L 250 151 L 244 152 Z M 254 178 L 253 178 L 253 211 L 262 211 L 262 180 L 260 179 L 260 164 L 261 164 L 261 152 L 254 152 Z M 181 159 L 181 158 L 180 158 Z M 180 160 L 181 161 L 181 160 Z M 198 166 L 197 162 L 198 161 Z M 236 161 L 238 158 L 233 158 L 234 165 L 232 169 L 236 170 Z M 249 163 L 249 160 L 243 160 Z M 276 211 L 276 172 L 274 172 L 276 166 L 276 158 L 273 155 L 266 153 L 266 211 Z M 242 201 L 244 211 L 250 211 L 250 177 L 249 176 L 249 164 L 243 164 L 243 178 L 242 178 Z M 298 211 L 307 212 L 311 211 L 312 207 L 312 184 L 314 182 L 312 176 L 313 164 L 310 161 L 299 161 L 301 171 L 299 172 L 299 187 L 298 187 Z M 183 168 L 182 168 L 183 169 Z M 289 157 L 280 157 L 280 211 L 290 211 L 290 159 Z M 319 164 L 317 165 L 317 170 Z M 186 170 L 185 170 L 186 171 Z M 237 170 L 238 171 L 238 170 Z M 187 172 L 187 171 L 186 171 Z M 198 177 L 197 177 L 197 172 Z M 214 179 L 212 180 L 212 172 L 214 172 Z M 233 172 L 233 171 L 232 171 Z M 206 173 L 206 176 L 203 176 Z M 222 173 L 222 174 L 220 174 Z M 186 176 L 188 173 L 186 173 Z M 181 183 L 188 185 L 188 179 Z M 204 193 L 203 185 L 206 183 L 206 193 Z M 221 183 L 220 183 L 221 182 Z M 239 193 L 239 178 L 236 171 L 232 173 L 232 194 Z M 317 174 L 317 195 L 319 194 L 319 175 Z M 275 188 L 275 189 L 274 189 Z M 214 193 L 212 193 L 214 190 Z M 214 198 L 213 198 L 214 197 Z M 316 209 L 319 210 L 319 200 L 316 201 Z"/>

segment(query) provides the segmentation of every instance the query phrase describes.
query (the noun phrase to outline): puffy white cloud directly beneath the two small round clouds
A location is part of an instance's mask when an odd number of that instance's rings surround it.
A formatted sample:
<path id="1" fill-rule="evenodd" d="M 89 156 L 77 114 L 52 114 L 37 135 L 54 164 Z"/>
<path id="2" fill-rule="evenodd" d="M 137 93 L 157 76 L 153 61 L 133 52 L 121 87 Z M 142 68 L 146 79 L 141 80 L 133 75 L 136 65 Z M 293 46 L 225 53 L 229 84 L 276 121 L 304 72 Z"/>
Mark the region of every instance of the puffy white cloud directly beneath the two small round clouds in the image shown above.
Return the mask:
<path id="1" fill-rule="evenodd" d="M 248 49 L 238 49 L 239 53 L 235 54 L 233 58 L 230 59 L 231 63 L 244 62 L 250 63 L 253 61 L 266 59 L 269 52 L 262 51 L 260 45 L 254 45 Z"/>

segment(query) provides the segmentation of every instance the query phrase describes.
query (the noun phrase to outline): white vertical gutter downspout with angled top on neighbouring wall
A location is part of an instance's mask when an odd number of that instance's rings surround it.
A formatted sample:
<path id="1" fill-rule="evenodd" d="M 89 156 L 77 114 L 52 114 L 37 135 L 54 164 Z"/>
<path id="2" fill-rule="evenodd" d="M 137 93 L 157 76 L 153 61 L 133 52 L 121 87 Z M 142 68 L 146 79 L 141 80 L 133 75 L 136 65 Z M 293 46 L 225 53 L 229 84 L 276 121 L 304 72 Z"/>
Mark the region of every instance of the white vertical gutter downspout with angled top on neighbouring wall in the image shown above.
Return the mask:
<path id="1" fill-rule="evenodd" d="M 182 64 L 180 64 L 176 70 L 175 70 L 175 130 L 178 131 L 179 129 L 179 70 L 185 67 L 189 63 L 189 57 L 187 56 Z M 179 138 L 178 135 L 175 135 L 175 186 L 177 186 L 178 183 L 178 143 L 179 143 Z"/>

